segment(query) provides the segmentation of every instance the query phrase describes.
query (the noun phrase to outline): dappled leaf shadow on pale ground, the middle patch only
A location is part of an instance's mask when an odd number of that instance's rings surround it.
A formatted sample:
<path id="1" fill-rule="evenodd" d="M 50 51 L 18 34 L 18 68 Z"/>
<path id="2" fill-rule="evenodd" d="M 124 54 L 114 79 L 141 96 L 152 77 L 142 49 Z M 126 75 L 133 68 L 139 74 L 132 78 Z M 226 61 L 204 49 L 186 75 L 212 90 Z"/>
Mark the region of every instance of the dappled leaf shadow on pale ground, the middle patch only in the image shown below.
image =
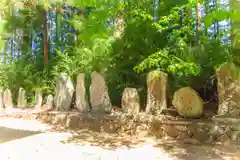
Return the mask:
<path id="1" fill-rule="evenodd" d="M 62 143 L 74 143 L 79 145 L 100 146 L 104 149 L 114 150 L 117 148 L 135 148 L 146 142 L 134 136 L 109 134 L 104 132 L 93 132 L 89 130 L 80 130 L 73 133 L 73 136 Z"/>

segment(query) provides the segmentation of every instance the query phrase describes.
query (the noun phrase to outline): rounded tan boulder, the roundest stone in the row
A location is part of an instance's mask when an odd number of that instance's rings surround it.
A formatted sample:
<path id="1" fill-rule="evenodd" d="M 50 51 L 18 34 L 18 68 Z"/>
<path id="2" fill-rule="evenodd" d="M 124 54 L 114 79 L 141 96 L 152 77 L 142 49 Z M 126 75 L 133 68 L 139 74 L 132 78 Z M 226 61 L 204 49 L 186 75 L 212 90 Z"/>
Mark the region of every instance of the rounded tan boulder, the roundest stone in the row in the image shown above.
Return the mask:
<path id="1" fill-rule="evenodd" d="M 203 100 L 190 87 L 177 90 L 173 95 L 172 104 L 178 114 L 186 118 L 197 118 L 203 113 Z"/>

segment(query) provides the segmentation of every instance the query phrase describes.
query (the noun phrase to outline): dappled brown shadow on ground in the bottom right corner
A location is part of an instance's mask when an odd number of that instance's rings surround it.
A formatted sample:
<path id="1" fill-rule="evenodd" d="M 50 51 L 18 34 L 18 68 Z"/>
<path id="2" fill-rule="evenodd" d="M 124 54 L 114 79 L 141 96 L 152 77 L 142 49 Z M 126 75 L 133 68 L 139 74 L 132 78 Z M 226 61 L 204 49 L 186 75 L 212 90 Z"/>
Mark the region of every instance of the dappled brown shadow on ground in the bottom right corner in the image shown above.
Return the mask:
<path id="1" fill-rule="evenodd" d="M 163 141 L 154 147 L 161 148 L 179 160 L 239 160 L 240 145 L 236 144 L 184 144 L 181 141 Z"/>

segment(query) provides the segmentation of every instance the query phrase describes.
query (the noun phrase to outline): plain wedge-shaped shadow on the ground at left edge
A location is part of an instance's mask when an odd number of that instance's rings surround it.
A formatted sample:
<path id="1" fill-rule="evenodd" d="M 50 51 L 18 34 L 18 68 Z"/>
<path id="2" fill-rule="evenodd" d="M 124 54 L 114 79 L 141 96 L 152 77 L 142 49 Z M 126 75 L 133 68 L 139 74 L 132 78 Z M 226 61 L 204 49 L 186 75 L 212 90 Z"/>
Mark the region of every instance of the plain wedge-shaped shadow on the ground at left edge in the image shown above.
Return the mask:
<path id="1" fill-rule="evenodd" d="M 0 127 L 0 143 L 36 135 L 39 133 L 41 133 L 41 132 Z"/>

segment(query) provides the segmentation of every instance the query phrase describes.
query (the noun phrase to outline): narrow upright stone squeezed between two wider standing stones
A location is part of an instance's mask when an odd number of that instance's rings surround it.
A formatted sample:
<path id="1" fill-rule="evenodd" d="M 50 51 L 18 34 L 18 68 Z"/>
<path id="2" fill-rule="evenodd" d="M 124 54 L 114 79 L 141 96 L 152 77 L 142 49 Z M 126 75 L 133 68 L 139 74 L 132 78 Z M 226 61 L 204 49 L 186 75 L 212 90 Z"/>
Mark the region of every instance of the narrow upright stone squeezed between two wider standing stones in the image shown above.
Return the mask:
<path id="1" fill-rule="evenodd" d="M 88 112 L 90 110 L 88 100 L 86 98 L 85 74 L 84 73 L 80 73 L 77 76 L 76 108 L 80 112 Z"/>

